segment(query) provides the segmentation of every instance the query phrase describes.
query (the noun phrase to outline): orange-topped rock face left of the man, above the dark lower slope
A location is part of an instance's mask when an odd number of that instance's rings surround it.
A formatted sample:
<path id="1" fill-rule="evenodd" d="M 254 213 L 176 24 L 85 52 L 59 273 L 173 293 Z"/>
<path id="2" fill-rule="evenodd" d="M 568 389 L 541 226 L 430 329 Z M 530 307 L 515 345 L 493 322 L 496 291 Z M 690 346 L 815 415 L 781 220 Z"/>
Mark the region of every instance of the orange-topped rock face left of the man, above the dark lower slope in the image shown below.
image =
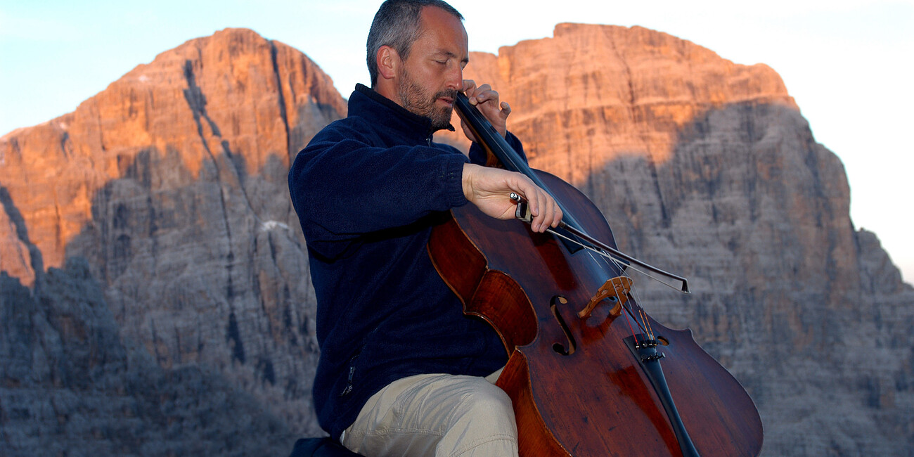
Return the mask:
<path id="1" fill-rule="evenodd" d="M 295 49 L 250 30 L 188 41 L 76 112 L 0 140 L 0 266 L 34 284 L 41 301 L 45 269 L 88 260 L 116 323 L 111 337 L 138 345 L 159 369 L 136 376 L 175 384 L 168 392 L 212 390 L 211 403 L 174 400 L 186 402 L 176 413 L 206 413 L 182 431 L 188 445 L 211 440 L 217 423 L 236 439 L 259 434 L 252 442 L 316 435 L 314 292 L 286 173 L 314 133 L 342 116 L 332 81 Z M 111 363 L 90 351 L 86 367 Z M 39 365 L 19 364 L 26 374 Z M 255 414 L 228 409 L 239 402 L 282 426 L 249 427 Z M 229 426 L 236 412 L 241 421 Z M 289 452 L 292 442 L 274 444 Z"/>

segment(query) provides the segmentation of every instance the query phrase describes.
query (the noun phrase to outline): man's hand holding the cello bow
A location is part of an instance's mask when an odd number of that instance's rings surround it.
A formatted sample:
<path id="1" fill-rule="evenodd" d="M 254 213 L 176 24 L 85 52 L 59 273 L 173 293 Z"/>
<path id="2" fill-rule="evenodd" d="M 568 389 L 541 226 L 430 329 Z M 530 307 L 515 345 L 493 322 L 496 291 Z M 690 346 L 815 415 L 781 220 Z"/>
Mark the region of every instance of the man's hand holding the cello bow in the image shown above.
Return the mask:
<path id="1" fill-rule="evenodd" d="M 530 228 L 533 231 L 544 232 L 549 227 L 558 227 L 558 222 L 562 220 L 562 210 L 555 198 L 520 173 L 464 164 L 462 183 L 466 199 L 493 218 L 515 217 L 516 203 L 510 197 L 514 192 L 524 197 L 530 207 L 530 214 L 533 215 Z"/>

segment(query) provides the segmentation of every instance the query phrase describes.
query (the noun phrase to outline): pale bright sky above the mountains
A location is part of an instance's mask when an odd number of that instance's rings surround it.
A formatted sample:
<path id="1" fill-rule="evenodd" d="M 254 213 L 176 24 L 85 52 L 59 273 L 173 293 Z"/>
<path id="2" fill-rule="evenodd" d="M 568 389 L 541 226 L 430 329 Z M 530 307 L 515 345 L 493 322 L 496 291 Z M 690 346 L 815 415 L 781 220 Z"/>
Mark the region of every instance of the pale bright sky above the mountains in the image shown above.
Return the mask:
<path id="1" fill-rule="evenodd" d="M 379 0 L 0 0 L 0 136 L 72 112 L 135 66 L 246 27 L 302 50 L 344 97 L 367 82 Z M 816 141 L 841 158 L 855 228 L 914 283 L 914 0 L 452 0 L 470 49 L 551 37 L 561 22 L 641 26 L 775 69 Z"/>

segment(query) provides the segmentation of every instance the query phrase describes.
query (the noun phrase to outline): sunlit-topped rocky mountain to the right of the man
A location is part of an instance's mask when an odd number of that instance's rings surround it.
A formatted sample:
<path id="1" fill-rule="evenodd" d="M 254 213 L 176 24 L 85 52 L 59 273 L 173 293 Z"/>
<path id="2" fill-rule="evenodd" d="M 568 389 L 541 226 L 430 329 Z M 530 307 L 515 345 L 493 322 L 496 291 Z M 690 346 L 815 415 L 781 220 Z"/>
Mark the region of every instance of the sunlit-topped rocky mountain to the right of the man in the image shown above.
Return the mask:
<path id="1" fill-rule="evenodd" d="M 749 390 L 766 454 L 914 447 L 914 292 L 854 230 L 843 165 L 772 69 L 569 24 L 470 61 L 533 167 L 584 191 L 622 250 L 691 280 L 684 296 L 635 277 L 655 318 L 691 327 Z"/>

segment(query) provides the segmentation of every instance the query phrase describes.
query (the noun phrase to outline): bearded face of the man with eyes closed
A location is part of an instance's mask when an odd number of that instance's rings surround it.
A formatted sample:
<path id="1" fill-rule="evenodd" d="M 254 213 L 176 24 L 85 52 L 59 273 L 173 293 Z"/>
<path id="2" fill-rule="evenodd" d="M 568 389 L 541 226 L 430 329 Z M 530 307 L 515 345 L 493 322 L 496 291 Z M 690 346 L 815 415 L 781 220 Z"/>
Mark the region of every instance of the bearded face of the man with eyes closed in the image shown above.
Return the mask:
<path id="1" fill-rule="evenodd" d="M 443 129 L 451 123 L 454 98 L 463 89 L 463 67 L 470 59 L 466 30 L 459 18 L 434 6 L 422 9 L 420 21 L 421 35 L 398 73 L 399 104 Z"/>

